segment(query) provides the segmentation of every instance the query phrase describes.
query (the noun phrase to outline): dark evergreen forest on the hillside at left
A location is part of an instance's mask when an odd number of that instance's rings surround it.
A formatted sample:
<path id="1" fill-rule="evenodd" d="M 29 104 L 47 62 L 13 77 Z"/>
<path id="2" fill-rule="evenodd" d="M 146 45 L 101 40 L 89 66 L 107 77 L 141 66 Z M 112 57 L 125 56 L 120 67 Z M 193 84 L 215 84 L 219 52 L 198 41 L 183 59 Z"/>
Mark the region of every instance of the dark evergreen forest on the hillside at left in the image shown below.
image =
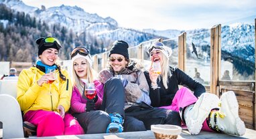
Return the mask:
<path id="1" fill-rule="evenodd" d="M 79 35 L 60 24 L 48 25 L 23 12 L 13 11 L 0 4 L 0 61 L 34 62 L 38 58 L 39 37 L 54 36 L 62 43 L 60 59 L 70 59 L 70 52 L 83 45 L 90 54 L 103 52 L 103 43 L 86 33 Z"/>

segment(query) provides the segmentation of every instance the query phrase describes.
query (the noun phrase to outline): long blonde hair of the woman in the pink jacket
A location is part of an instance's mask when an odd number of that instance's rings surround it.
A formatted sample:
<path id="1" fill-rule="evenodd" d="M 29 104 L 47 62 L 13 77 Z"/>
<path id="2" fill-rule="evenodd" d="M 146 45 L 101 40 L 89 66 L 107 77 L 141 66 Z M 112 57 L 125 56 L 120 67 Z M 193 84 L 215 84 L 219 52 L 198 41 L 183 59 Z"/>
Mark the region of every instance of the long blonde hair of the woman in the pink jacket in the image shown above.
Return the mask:
<path id="1" fill-rule="evenodd" d="M 94 80 L 97 79 L 98 74 L 97 72 L 92 68 L 88 60 L 86 59 L 86 65 L 87 65 L 87 70 L 86 70 L 86 80 L 88 80 L 88 83 L 92 83 Z M 84 83 L 80 80 L 80 78 L 77 76 L 76 71 L 74 71 L 74 63 L 72 65 L 72 78 L 73 78 L 73 86 L 76 86 L 80 94 L 82 95 L 83 89 L 84 89 Z"/>

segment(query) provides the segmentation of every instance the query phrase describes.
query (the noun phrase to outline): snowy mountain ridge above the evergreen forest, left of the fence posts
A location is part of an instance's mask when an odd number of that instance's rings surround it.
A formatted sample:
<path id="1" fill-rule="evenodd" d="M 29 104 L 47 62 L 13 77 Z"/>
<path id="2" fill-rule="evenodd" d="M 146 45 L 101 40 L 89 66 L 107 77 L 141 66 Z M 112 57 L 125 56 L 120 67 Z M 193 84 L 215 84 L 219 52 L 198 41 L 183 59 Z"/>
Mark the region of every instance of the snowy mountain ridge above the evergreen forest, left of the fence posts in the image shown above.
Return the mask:
<path id="1" fill-rule="evenodd" d="M 41 19 L 48 24 L 60 23 L 78 35 L 86 32 L 103 40 L 103 45 L 109 45 L 108 41 L 125 39 L 130 45 L 138 45 L 143 41 L 157 38 L 156 35 L 137 31 L 135 29 L 125 29 L 118 26 L 117 21 L 111 17 L 103 18 L 96 13 L 91 14 L 80 7 L 61 5 L 60 7 L 50 7 L 41 9 L 25 5 L 20 0 L 0 0 L 7 7 L 16 11 L 23 11 L 29 15 Z"/>

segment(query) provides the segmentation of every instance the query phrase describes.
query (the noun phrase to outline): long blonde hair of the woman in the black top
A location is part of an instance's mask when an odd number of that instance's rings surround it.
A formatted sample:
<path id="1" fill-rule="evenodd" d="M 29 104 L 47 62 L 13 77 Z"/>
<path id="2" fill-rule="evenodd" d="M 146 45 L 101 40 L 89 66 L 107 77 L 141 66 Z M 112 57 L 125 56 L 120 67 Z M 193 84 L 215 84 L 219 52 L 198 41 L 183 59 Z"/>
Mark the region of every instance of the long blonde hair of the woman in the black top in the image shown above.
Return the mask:
<path id="1" fill-rule="evenodd" d="M 168 89 L 168 76 L 172 76 L 172 73 L 170 71 L 170 67 L 168 66 L 169 64 L 169 57 L 166 57 L 166 55 L 164 55 L 164 53 L 162 53 L 161 51 L 161 54 L 162 54 L 162 61 L 161 61 L 161 69 L 162 69 L 162 72 L 161 72 L 161 76 L 162 76 L 162 80 L 163 80 L 163 84 L 164 84 L 164 87 L 166 89 Z"/>

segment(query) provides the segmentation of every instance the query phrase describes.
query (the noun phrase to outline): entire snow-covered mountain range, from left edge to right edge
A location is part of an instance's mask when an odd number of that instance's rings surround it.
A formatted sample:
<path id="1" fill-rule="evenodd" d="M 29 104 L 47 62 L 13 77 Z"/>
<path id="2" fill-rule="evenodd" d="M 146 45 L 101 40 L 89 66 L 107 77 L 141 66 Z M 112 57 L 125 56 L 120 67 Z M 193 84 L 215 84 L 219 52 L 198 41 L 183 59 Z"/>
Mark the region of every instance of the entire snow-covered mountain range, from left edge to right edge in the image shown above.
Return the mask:
<path id="1" fill-rule="evenodd" d="M 23 11 L 29 13 L 48 24 L 60 23 L 72 31 L 75 31 L 78 35 L 80 33 L 91 33 L 94 36 L 102 39 L 104 45 L 108 45 L 109 41 L 116 39 L 125 39 L 130 45 L 138 45 L 143 41 L 149 39 L 155 39 L 159 36 L 166 38 L 176 38 L 180 33 L 184 31 L 176 29 L 167 29 L 164 31 L 157 31 L 155 29 L 143 29 L 137 31 L 135 29 L 126 29 L 118 26 L 117 21 L 111 17 L 103 18 L 96 13 L 87 13 L 86 9 L 80 7 L 61 5 L 60 7 L 50 7 L 46 9 L 42 6 L 41 9 L 25 5 L 20 0 L 0 0 L 0 3 L 4 3 L 7 7 L 14 9 L 15 11 Z M 241 65 L 240 62 L 255 63 L 255 25 L 246 23 L 235 23 L 232 25 L 222 26 L 222 58 L 229 59 L 234 63 L 238 61 L 237 65 Z M 210 29 L 194 29 L 188 30 L 187 43 L 188 43 L 188 56 L 196 58 L 196 55 L 192 55 L 192 43 L 196 45 L 199 58 L 208 58 L 210 54 Z M 172 43 L 174 44 L 174 43 Z M 177 47 L 178 42 L 171 46 Z M 250 68 L 254 66 L 250 65 Z M 254 71 L 254 70 L 253 70 Z"/>

